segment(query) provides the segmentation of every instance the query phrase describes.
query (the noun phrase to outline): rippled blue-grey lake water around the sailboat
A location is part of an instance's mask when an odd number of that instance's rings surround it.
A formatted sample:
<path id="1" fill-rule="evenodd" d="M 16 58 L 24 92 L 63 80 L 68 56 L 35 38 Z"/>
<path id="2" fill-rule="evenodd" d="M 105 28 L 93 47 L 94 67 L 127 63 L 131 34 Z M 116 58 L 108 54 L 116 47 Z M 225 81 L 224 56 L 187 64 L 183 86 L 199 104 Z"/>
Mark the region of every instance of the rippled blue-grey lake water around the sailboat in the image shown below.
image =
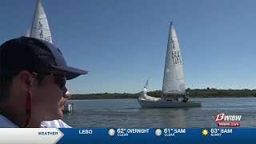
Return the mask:
<path id="1" fill-rule="evenodd" d="M 240 127 L 256 127 L 256 98 L 193 98 L 202 107 L 143 109 L 137 99 L 70 100 L 76 111 L 62 120 L 73 127 L 217 127 L 217 114 L 242 115 Z"/>

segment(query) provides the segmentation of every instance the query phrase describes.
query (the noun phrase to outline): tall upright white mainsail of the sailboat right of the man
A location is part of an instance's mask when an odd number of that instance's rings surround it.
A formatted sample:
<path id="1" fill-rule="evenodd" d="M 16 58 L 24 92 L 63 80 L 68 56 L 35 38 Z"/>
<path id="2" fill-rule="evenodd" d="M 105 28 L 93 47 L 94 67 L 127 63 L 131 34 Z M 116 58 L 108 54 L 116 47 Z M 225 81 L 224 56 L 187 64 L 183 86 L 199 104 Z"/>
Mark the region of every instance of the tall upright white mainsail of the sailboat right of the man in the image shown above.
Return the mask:
<path id="1" fill-rule="evenodd" d="M 170 22 L 162 94 L 185 94 L 182 55 L 172 22 Z"/>

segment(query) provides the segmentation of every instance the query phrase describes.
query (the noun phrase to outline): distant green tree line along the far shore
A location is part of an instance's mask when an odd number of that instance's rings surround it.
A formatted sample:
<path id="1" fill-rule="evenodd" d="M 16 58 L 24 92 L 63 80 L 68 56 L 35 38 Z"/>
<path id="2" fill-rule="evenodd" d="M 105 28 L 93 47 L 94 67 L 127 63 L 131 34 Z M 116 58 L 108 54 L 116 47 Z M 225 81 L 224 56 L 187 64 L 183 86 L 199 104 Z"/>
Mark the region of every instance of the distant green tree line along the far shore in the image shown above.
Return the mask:
<path id="1" fill-rule="evenodd" d="M 194 89 L 190 90 L 190 98 L 242 98 L 242 97 L 256 97 L 256 90 L 218 90 L 218 89 L 210 89 L 207 87 L 206 89 Z M 147 95 L 153 97 L 161 97 L 162 90 L 155 90 L 147 92 Z M 102 93 L 102 94 L 72 94 L 70 99 L 122 99 L 122 98 L 138 98 L 140 92 L 137 94 L 128 94 L 128 93 Z"/>

